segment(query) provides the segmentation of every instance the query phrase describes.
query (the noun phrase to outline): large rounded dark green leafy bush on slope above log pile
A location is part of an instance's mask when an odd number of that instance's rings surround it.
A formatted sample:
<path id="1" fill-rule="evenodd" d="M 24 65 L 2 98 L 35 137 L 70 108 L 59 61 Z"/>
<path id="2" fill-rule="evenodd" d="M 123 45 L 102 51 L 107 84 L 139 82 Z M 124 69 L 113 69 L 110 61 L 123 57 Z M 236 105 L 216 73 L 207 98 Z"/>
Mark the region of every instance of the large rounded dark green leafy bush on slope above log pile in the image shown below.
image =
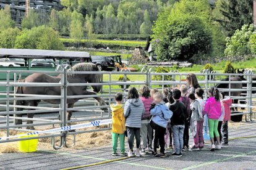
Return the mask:
<path id="1" fill-rule="evenodd" d="M 205 23 L 198 17 L 176 18 L 166 34 L 156 34 L 158 60 L 189 60 L 195 54 L 208 53 L 211 49 L 211 34 Z"/>

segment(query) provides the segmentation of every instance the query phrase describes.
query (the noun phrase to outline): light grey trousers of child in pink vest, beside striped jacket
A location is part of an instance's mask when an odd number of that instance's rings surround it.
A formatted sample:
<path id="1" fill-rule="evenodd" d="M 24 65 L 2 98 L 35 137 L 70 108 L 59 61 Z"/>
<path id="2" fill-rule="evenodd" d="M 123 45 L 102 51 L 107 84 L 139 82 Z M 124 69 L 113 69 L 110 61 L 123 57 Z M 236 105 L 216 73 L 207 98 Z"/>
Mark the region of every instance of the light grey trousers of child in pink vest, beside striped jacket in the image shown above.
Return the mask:
<path id="1" fill-rule="evenodd" d="M 147 140 L 148 140 L 148 148 L 152 147 L 152 128 L 149 123 L 142 123 L 142 127 L 140 128 L 140 135 L 142 137 L 140 142 L 140 147 L 142 150 L 147 148 Z"/>

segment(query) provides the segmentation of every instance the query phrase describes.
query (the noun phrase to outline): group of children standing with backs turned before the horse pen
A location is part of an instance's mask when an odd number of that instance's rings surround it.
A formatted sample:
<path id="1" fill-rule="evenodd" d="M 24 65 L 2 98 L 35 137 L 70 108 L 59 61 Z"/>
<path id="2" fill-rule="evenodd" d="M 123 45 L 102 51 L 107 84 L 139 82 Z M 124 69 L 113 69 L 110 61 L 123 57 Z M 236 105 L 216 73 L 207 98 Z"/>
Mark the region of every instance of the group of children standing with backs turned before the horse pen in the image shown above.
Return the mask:
<path id="1" fill-rule="evenodd" d="M 190 88 L 189 88 L 190 89 Z M 207 115 L 211 139 L 211 151 L 221 149 L 221 126 L 224 143 L 228 145 L 228 120 L 230 119 L 231 99 L 224 99 L 224 93 L 212 87 L 209 99 L 203 100 L 203 89 L 198 87 L 188 91 L 186 85 L 180 89 L 157 89 L 142 86 L 140 92 L 135 87 L 128 91 L 128 99 L 122 105 L 121 93 L 115 95 L 116 103 L 111 104 L 113 156 L 117 155 L 117 140 L 120 139 L 121 155 L 129 157 L 152 153 L 165 157 L 168 138 L 173 147 L 172 156 L 182 156 L 186 150 L 202 150 L 203 117 Z M 189 127 L 194 144 L 189 145 Z M 129 151 L 124 147 L 125 132 Z M 134 137 L 136 150 L 134 152 Z M 157 148 L 160 147 L 160 153 Z"/>

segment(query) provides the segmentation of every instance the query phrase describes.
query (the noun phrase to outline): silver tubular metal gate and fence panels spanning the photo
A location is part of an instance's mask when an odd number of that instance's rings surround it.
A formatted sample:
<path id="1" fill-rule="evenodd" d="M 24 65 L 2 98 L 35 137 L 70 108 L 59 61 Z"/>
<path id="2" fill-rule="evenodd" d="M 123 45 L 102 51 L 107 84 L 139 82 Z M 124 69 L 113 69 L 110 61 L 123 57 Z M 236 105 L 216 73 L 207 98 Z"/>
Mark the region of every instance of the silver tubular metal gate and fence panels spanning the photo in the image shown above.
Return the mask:
<path id="1" fill-rule="evenodd" d="M 69 71 L 69 73 L 76 73 L 76 74 L 100 74 L 102 78 L 102 83 L 68 83 L 67 82 L 67 70 L 62 67 L 60 71 L 22 71 L 22 70 L 7 70 L 3 71 L 0 70 L 0 73 L 6 73 L 6 81 L 0 82 L 0 86 L 6 87 L 6 91 L 1 92 L 0 95 L 2 98 L 0 98 L 0 118 L 2 118 L 0 124 L 0 130 L 6 131 L 6 136 L 0 138 L 0 143 L 2 142 L 13 142 L 13 141 L 19 141 L 19 140 L 26 140 L 26 139 L 38 139 L 38 138 L 46 138 L 51 137 L 52 139 L 52 145 L 53 148 L 61 148 L 61 147 L 69 147 L 67 144 L 67 136 L 72 135 L 73 136 L 73 144 L 75 145 L 75 134 L 81 134 L 85 132 L 93 132 L 93 131 L 105 131 L 108 129 L 111 129 L 111 124 L 107 127 L 101 128 L 101 129 L 82 129 L 80 131 L 76 132 L 70 132 L 69 126 L 67 126 L 68 123 L 94 123 L 94 121 L 99 120 L 105 120 L 105 119 L 111 119 L 111 111 L 109 110 L 109 104 L 113 103 L 114 94 L 116 92 L 122 92 L 124 96 L 127 96 L 127 87 L 133 86 L 139 88 L 139 86 L 142 85 L 148 85 L 150 87 L 154 87 L 159 89 L 160 91 L 163 91 L 164 86 L 181 86 L 181 84 L 187 84 L 184 79 L 186 78 L 188 73 L 177 73 L 177 71 L 170 71 L 170 73 L 155 73 L 153 68 L 142 68 L 141 72 L 132 73 L 129 70 L 124 70 L 121 72 L 105 72 L 105 71 L 95 71 L 95 72 L 72 72 Z M 18 83 L 17 79 L 23 75 L 30 75 L 32 73 L 46 73 L 49 75 L 62 75 L 62 79 L 59 83 Z M 124 76 L 121 80 L 118 80 L 118 76 Z M 198 78 L 198 83 L 201 85 L 203 89 L 205 89 L 205 92 L 208 91 L 210 87 L 215 86 L 218 83 L 226 83 L 229 84 L 229 89 L 220 89 L 221 91 L 228 91 L 229 97 L 231 99 L 240 99 L 245 100 L 246 105 L 244 107 L 247 108 L 247 110 L 233 114 L 233 115 L 246 115 L 247 121 L 252 121 L 254 119 L 254 111 L 252 111 L 252 107 L 254 106 L 255 102 L 255 96 L 252 95 L 252 92 L 255 92 L 256 89 L 252 87 L 252 83 L 256 83 L 256 81 L 252 81 L 252 76 L 254 75 L 251 71 L 247 71 L 244 74 L 242 74 L 247 80 L 242 82 L 234 82 L 234 81 L 220 81 L 223 76 L 241 76 L 241 74 L 220 74 L 220 73 L 209 73 L 208 70 L 203 70 L 202 73 L 195 73 Z M 14 81 L 11 81 L 11 76 L 14 76 Z M 128 81 L 127 76 L 130 77 L 130 80 Z M 161 76 L 161 80 L 153 80 L 154 76 Z M 172 76 L 171 80 L 166 80 L 164 76 Z M 247 84 L 247 86 L 243 89 L 231 89 L 232 83 L 244 83 Z M 73 95 L 68 96 L 67 95 L 67 87 L 68 86 L 93 86 L 93 85 L 101 85 L 101 93 L 97 95 Z M 26 95 L 26 94 L 15 94 L 14 91 L 11 91 L 10 87 L 17 87 L 17 86 L 57 86 L 61 88 L 61 95 Z M 120 87 L 117 87 L 120 86 Z M 90 89 L 88 89 L 90 90 Z M 232 91 L 246 91 L 245 96 L 237 97 L 237 96 L 231 96 Z M 205 93 L 205 99 L 207 98 L 207 93 Z M 98 103 L 95 100 L 92 100 L 92 97 L 102 97 L 105 102 L 108 103 L 106 106 L 99 106 Z M 77 105 L 75 105 L 74 108 L 67 108 L 66 100 L 72 99 L 72 98 L 80 98 L 79 102 L 77 102 Z M 85 99 L 86 98 L 86 99 Z M 27 107 L 34 110 L 23 110 L 23 111 L 15 111 L 15 108 L 17 108 L 17 105 L 15 105 L 15 101 L 17 100 L 44 100 L 44 99 L 60 99 L 61 104 L 60 105 L 50 105 L 46 103 L 41 103 L 38 107 Z M 85 103 L 87 103 L 85 105 Z M 21 107 L 21 106 L 19 106 Z M 108 108 L 108 111 L 102 111 L 101 108 Z M 67 121 L 66 117 L 66 111 L 77 111 L 77 113 L 82 113 L 80 116 L 74 116 L 70 121 Z M 27 114 L 27 113 L 57 113 L 58 116 L 54 119 L 50 118 L 17 118 L 15 117 L 15 114 Z M 12 116 L 11 116 L 12 115 Z M 90 116 L 88 116 L 90 115 Z M 20 129 L 20 127 L 27 127 L 30 126 L 30 124 L 22 124 L 22 125 L 16 125 L 14 122 L 15 119 L 22 119 L 22 120 L 33 120 L 33 126 L 36 127 L 43 127 L 47 126 L 59 126 L 59 128 L 62 128 L 62 131 L 58 132 L 51 132 L 46 131 L 44 134 L 40 134 L 38 137 L 30 137 L 30 138 L 22 138 L 19 139 L 17 137 L 10 136 L 9 132 L 10 130 L 16 130 L 16 131 L 25 131 L 26 129 Z M 96 123 L 96 125 L 98 125 Z M 32 133 L 36 133 L 38 131 L 31 131 Z M 60 137 L 60 143 L 58 146 L 55 144 L 55 138 Z"/>

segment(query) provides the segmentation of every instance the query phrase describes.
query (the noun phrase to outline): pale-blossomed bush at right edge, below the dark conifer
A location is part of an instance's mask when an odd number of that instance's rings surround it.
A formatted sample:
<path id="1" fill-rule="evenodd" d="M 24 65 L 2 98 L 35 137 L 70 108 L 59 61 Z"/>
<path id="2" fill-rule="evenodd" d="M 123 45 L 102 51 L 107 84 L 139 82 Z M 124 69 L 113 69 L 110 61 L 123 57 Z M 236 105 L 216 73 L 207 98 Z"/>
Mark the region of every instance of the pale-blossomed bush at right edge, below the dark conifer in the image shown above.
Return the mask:
<path id="1" fill-rule="evenodd" d="M 227 44 L 224 51 L 227 56 L 250 54 L 249 39 L 254 32 L 254 25 L 244 25 L 241 30 L 236 30 L 231 38 L 226 38 Z"/>

